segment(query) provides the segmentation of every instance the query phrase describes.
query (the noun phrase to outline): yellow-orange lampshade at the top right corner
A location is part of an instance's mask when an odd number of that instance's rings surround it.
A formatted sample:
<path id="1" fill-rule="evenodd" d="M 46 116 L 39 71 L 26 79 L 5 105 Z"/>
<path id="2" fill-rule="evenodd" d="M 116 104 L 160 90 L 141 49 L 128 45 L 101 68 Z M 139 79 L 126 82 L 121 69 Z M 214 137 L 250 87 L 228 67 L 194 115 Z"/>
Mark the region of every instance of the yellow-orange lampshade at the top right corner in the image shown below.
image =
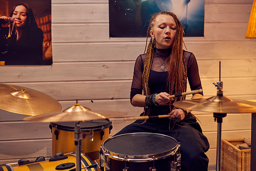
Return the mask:
<path id="1" fill-rule="evenodd" d="M 245 38 L 256 38 L 256 0 L 253 0 Z"/>

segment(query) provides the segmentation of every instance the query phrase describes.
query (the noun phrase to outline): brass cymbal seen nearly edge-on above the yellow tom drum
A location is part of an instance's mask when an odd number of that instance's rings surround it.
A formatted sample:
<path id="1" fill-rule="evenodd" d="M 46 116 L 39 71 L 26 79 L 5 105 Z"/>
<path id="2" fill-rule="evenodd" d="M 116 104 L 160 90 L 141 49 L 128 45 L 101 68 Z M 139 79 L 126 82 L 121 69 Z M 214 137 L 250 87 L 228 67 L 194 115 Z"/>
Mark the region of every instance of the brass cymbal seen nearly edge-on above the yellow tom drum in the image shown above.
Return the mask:
<path id="1" fill-rule="evenodd" d="M 113 116 L 126 115 L 124 112 L 92 111 L 80 104 L 75 104 L 62 112 L 52 112 L 37 116 L 26 117 L 23 120 L 32 122 L 78 122 L 88 120 L 106 119 Z"/>

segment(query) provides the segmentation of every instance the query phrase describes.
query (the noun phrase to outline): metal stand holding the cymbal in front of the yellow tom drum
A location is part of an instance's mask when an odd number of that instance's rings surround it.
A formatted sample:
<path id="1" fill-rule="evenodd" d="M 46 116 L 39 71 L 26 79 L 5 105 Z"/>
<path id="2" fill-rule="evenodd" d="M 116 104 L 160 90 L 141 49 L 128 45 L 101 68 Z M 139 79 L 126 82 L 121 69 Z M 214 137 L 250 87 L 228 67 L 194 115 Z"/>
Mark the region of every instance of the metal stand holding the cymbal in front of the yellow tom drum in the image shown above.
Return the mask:
<path id="1" fill-rule="evenodd" d="M 75 133 L 74 133 L 74 139 L 75 139 L 75 146 L 76 146 L 76 171 L 81 170 L 81 140 L 89 137 L 90 141 L 93 141 L 93 130 L 90 130 L 89 134 L 86 135 L 86 133 L 80 133 L 80 121 L 75 122 Z"/>

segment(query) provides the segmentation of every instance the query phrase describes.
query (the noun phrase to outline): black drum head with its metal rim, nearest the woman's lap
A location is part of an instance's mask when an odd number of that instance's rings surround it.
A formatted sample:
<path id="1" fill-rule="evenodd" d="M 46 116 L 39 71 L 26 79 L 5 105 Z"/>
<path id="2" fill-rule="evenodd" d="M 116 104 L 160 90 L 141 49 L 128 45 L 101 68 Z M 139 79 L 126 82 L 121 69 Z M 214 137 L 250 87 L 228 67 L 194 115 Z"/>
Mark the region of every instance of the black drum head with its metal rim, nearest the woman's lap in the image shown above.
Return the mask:
<path id="1" fill-rule="evenodd" d="M 131 133 L 111 137 L 103 142 L 110 158 L 139 162 L 139 159 L 158 160 L 174 155 L 179 148 L 172 137 L 155 133 Z"/>

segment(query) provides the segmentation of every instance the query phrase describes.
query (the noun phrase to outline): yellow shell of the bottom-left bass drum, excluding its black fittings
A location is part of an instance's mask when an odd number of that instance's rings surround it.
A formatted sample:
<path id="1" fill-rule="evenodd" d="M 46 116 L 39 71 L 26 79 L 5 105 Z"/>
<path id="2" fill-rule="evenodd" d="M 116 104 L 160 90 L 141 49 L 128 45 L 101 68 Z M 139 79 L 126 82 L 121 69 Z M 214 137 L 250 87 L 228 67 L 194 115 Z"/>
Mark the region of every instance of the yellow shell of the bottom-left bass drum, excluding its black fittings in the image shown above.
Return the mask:
<path id="1" fill-rule="evenodd" d="M 84 160 L 83 160 L 83 159 Z M 90 166 L 94 163 L 92 163 L 92 160 L 90 160 L 87 156 L 82 155 L 81 160 L 86 164 L 86 166 Z M 36 170 L 36 171 L 51 171 L 51 170 L 56 170 L 56 166 L 64 163 L 75 163 L 76 165 L 76 157 L 75 156 L 68 156 L 67 159 L 59 160 L 59 161 L 40 161 L 36 163 L 30 163 L 30 164 L 25 164 L 25 165 L 20 165 L 20 166 L 12 166 L 12 165 L 6 165 L 6 166 L 0 166 L 0 170 L 8 171 L 8 170 L 14 170 L 14 171 L 31 171 L 31 170 Z M 81 168 L 84 167 L 81 164 Z M 72 168 L 75 168 L 72 167 Z M 70 170 L 71 168 L 63 169 L 63 170 Z M 91 171 L 97 171 L 95 167 L 90 168 L 88 170 Z"/>

